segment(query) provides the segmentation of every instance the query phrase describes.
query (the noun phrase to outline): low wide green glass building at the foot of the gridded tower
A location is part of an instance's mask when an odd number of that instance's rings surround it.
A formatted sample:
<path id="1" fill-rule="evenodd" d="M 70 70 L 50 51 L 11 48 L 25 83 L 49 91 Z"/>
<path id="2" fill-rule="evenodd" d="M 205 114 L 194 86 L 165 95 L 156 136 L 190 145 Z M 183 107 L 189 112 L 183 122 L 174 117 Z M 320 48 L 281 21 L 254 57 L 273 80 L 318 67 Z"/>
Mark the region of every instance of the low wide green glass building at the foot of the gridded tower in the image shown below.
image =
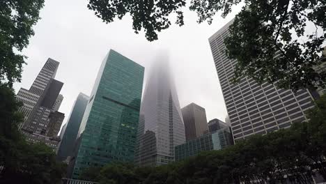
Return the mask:
<path id="1" fill-rule="evenodd" d="M 176 161 L 196 156 L 202 151 L 220 150 L 232 144 L 231 129 L 228 127 L 222 128 L 176 146 Z"/>

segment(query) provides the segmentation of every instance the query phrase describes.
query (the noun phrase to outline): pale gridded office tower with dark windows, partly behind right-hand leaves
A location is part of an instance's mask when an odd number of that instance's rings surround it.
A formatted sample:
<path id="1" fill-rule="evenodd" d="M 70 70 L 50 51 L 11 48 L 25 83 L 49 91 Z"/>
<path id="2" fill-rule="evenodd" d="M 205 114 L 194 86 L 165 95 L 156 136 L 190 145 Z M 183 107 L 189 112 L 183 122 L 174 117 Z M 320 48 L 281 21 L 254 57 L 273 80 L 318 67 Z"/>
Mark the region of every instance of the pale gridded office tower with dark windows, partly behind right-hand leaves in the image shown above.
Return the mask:
<path id="1" fill-rule="evenodd" d="M 208 40 L 235 141 L 252 134 L 288 128 L 296 121 L 306 120 L 304 111 L 313 107 L 313 96 L 306 89 L 295 93 L 277 89 L 267 82 L 260 85 L 249 77 L 242 77 L 238 84 L 233 84 L 231 79 L 237 61 L 228 59 L 224 45 L 228 26 L 232 23 L 228 22 Z"/>

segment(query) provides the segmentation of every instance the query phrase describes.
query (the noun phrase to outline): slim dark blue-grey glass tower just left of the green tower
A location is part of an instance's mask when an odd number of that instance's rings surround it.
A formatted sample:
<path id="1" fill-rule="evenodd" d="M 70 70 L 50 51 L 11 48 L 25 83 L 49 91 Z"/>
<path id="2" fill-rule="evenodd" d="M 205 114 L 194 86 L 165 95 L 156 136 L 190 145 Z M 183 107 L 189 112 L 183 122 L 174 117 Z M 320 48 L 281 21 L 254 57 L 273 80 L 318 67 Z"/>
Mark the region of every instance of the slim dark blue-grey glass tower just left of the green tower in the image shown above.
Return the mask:
<path id="1" fill-rule="evenodd" d="M 59 160 L 66 160 L 68 156 L 72 156 L 72 150 L 77 139 L 81 120 L 83 119 L 86 106 L 88 104 L 89 97 L 83 93 L 79 93 L 75 100 L 74 106 L 70 113 L 68 122 L 61 137 L 57 158 Z M 61 131 L 63 131 L 61 130 Z"/>

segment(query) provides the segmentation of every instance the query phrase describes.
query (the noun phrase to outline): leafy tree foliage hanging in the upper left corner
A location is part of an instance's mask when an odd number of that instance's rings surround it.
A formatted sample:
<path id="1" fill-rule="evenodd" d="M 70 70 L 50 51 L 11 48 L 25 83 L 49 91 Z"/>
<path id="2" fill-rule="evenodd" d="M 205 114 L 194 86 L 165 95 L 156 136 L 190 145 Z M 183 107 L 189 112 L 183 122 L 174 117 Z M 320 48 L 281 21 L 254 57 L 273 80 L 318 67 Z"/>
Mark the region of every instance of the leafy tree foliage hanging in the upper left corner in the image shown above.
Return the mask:
<path id="1" fill-rule="evenodd" d="M 22 49 L 29 44 L 32 26 L 40 19 L 44 0 L 0 1 L 0 82 L 11 86 L 19 81 L 26 56 Z"/>

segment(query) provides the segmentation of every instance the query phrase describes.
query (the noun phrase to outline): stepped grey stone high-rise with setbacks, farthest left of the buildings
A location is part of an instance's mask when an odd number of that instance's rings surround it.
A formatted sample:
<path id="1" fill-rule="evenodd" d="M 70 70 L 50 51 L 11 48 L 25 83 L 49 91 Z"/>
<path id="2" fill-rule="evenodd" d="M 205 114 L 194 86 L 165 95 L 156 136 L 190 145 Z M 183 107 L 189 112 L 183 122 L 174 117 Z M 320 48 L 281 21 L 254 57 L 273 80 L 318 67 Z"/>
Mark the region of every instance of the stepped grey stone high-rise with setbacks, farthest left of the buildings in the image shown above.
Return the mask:
<path id="1" fill-rule="evenodd" d="M 58 67 L 58 61 L 47 59 L 31 88 L 29 90 L 22 88 L 17 93 L 17 100 L 24 103 L 20 107 L 20 112 L 24 115 L 20 129 L 27 140 L 45 141 L 54 149 L 59 139 L 54 139 L 54 143 L 48 141 L 49 137 L 57 136 L 65 117 L 63 113 L 57 112 L 63 99 L 62 95 L 59 97 L 63 83 L 54 79 Z M 60 103 L 56 103 L 58 99 L 61 100 Z"/>

